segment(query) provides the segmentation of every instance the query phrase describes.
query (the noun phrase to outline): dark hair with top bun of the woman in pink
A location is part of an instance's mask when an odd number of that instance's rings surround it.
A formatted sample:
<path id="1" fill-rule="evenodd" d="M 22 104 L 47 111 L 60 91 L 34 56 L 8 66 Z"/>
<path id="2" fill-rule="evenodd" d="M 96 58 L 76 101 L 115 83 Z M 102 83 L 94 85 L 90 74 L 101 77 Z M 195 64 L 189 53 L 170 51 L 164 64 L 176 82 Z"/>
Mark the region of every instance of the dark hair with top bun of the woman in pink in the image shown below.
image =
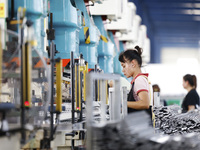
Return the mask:
<path id="1" fill-rule="evenodd" d="M 135 46 L 134 49 L 128 49 L 126 51 L 123 51 L 119 55 L 119 61 L 120 62 L 127 62 L 127 61 L 132 61 L 132 60 L 137 60 L 139 66 L 142 66 L 142 48 L 139 46 Z"/>

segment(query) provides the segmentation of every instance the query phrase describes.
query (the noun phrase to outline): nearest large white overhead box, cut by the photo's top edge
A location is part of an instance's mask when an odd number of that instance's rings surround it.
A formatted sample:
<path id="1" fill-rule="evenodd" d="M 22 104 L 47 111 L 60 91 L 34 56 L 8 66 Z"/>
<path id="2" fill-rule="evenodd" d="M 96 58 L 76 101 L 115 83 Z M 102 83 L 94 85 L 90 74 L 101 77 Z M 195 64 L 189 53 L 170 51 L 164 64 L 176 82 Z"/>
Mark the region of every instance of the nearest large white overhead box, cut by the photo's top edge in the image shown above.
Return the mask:
<path id="1" fill-rule="evenodd" d="M 91 15 L 107 16 L 107 19 L 110 20 L 117 20 L 122 17 L 124 2 L 127 3 L 127 0 L 106 0 L 101 4 L 95 3 L 94 6 L 89 7 L 90 13 Z"/>

